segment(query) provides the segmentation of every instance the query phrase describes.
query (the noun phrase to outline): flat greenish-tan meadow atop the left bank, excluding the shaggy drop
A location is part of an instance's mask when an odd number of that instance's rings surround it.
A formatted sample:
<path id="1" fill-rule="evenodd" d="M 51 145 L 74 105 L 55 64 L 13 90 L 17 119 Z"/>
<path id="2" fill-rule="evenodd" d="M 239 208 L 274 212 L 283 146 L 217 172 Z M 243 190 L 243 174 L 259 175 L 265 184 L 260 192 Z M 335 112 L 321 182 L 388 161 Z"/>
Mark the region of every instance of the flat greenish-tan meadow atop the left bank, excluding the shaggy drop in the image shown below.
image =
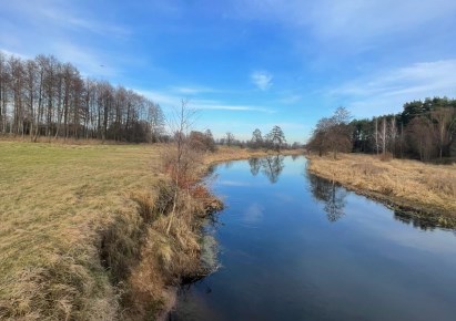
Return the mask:
<path id="1" fill-rule="evenodd" d="M 136 211 L 131 194 L 153 190 L 159 161 L 150 146 L 0 142 L 0 319 L 114 313 L 99 231 Z"/>

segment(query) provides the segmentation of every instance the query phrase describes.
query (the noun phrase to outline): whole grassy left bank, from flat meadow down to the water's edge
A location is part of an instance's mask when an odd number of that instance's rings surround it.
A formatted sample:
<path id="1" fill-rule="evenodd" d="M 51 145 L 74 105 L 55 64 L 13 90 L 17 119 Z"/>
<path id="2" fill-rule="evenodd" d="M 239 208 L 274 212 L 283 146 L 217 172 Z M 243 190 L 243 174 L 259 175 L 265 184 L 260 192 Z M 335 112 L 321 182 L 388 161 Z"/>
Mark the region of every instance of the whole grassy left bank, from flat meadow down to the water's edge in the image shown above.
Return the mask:
<path id="1" fill-rule="evenodd" d="M 169 308 L 170 286 L 199 269 L 204 208 L 201 193 L 184 194 L 170 224 L 166 148 L 0 142 L 0 319 L 138 320 Z M 224 147 L 204 163 L 264 155 Z"/>

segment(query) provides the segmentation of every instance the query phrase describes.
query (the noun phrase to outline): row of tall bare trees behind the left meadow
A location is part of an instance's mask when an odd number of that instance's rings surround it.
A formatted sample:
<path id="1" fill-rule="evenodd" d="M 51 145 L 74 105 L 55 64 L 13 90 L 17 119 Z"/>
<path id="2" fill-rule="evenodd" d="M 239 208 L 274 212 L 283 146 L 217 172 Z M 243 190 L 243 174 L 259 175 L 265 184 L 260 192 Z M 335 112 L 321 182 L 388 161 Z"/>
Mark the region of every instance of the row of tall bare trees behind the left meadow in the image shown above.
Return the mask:
<path id="1" fill-rule="evenodd" d="M 0 133 L 121 142 L 155 142 L 160 105 L 107 81 L 82 77 L 52 55 L 23 60 L 0 52 Z"/>

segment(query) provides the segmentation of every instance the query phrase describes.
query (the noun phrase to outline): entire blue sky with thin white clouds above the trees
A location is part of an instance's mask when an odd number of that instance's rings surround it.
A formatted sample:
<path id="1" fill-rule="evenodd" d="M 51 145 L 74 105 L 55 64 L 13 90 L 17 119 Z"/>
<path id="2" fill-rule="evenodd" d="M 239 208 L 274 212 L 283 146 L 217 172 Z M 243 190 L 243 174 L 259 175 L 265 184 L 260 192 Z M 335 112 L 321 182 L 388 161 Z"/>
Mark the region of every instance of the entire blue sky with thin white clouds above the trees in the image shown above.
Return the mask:
<path id="1" fill-rule="evenodd" d="M 196 130 L 305 142 L 355 117 L 456 96 L 454 0 L 1 0 L 0 50 L 53 54 L 83 75 L 197 110 Z"/>

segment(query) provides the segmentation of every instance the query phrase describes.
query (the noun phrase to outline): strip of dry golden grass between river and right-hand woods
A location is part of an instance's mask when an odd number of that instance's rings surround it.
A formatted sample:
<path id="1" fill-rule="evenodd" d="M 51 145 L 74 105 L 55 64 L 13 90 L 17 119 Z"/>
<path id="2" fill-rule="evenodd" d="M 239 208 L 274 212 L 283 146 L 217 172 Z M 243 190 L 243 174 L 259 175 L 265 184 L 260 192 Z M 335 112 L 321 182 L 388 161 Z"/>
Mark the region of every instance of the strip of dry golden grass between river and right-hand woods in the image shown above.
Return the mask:
<path id="1" fill-rule="evenodd" d="M 308 156 L 308 170 L 365 194 L 425 213 L 456 215 L 456 164 L 381 161 L 376 156 L 344 154 Z"/>

